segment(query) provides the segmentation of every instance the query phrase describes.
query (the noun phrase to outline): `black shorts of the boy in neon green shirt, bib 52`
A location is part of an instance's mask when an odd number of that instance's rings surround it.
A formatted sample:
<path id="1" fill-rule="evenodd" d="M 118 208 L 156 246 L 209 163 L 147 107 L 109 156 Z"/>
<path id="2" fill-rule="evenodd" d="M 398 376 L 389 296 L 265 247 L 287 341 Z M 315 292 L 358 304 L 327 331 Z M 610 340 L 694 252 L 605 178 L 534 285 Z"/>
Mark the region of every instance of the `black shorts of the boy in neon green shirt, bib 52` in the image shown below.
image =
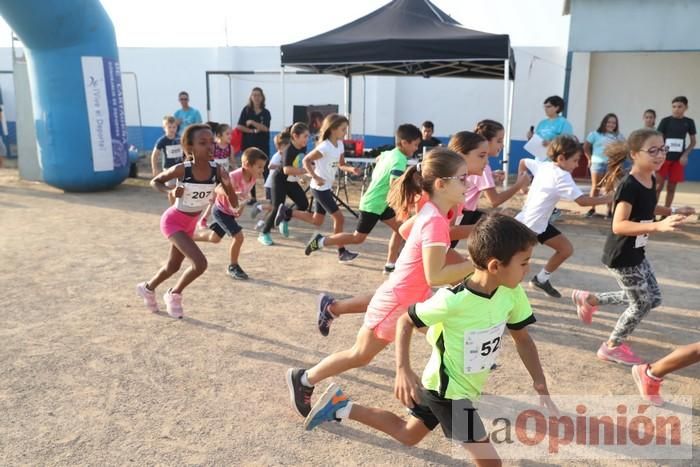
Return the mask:
<path id="1" fill-rule="evenodd" d="M 434 430 L 438 425 L 442 426 L 442 432 L 448 439 L 474 443 L 487 437 L 484 422 L 469 399 L 445 399 L 435 391 L 422 389 L 421 403 L 409 411 L 429 430 Z M 458 419 L 453 419 L 453 415 L 457 414 Z"/>

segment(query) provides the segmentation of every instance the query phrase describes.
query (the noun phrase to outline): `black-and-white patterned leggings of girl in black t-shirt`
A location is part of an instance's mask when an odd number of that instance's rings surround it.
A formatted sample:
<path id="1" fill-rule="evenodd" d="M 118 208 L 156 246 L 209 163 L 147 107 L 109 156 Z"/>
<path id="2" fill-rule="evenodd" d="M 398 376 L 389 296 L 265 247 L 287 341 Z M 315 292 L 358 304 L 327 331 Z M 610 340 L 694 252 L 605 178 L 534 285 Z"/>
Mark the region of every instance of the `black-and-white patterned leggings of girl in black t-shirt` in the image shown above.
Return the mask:
<path id="1" fill-rule="evenodd" d="M 610 334 L 610 342 L 620 345 L 653 308 L 661 305 L 661 290 L 646 258 L 637 266 L 608 268 L 622 290 L 596 294 L 600 305 L 627 305 Z"/>

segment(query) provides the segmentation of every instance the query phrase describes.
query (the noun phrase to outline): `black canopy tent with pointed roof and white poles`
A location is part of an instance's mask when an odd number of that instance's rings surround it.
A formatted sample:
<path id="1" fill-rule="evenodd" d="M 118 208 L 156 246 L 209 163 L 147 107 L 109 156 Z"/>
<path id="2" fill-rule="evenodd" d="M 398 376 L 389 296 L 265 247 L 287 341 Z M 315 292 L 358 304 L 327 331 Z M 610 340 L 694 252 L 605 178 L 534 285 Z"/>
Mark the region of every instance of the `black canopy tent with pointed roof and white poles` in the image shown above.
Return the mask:
<path id="1" fill-rule="evenodd" d="M 351 23 L 283 45 L 284 67 L 345 77 L 350 114 L 350 77 L 423 76 L 503 79 L 506 127 L 503 165 L 508 170 L 515 61 L 510 38 L 462 27 L 429 0 L 393 0 Z"/>

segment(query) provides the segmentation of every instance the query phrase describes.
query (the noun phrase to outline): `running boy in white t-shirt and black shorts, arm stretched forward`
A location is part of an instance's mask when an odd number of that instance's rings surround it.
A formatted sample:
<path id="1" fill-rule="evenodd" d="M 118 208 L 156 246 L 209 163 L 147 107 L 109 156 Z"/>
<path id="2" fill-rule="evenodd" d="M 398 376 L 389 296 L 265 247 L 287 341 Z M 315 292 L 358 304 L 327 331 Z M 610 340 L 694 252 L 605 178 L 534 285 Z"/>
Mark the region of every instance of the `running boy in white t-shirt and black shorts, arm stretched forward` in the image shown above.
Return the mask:
<path id="1" fill-rule="evenodd" d="M 569 239 L 549 223 L 554 207 L 560 199 L 575 201 L 579 206 L 596 206 L 612 202 L 612 194 L 606 196 L 586 196 L 576 186 L 571 172 L 578 167 L 583 153 L 581 144 L 572 136 L 557 136 L 547 146 L 547 156 L 551 162 L 537 162 L 534 159 L 521 159 L 519 171 L 529 170 L 534 178 L 523 205 L 515 218 L 537 234 L 537 241 L 554 250 L 542 270 L 532 277 L 530 285 L 554 298 L 561 298 L 552 287 L 549 278 L 566 259 L 574 253 Z"/>

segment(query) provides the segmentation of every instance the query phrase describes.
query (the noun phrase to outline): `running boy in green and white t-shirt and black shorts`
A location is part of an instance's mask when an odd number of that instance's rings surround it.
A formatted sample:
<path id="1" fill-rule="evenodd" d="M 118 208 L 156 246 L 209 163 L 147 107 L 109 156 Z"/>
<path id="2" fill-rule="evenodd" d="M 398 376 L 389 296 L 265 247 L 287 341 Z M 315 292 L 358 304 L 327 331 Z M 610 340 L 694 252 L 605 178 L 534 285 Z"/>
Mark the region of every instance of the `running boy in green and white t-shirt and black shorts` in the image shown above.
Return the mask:
<path id="1" fill-rule="evenodd" d="M 420 142 L 421 132 L 415 125 L 410 123 L 399 125 L 396 130 L 396 147 L 391 151 L 384 151 L 377 157 L 372 171 L 372 180 L 360 200 L 360 218 L 355 232 L 329 236 L 317 235 L 306 245 L 304 253 L 308 256 L 326 246 L 359 245 L 365 241 L 377 222 L 382 221 L 393 230 L 389 240 L 387 261 L 384 265 L 384 272 L 391 273 L 395 268 L 396 258 L 399 256 L 403 241 L 398 232 L 399 222 L 396 219 L 396 213 L 389 207 L 387 195 L 394 180 L 406 171 L 407 159 L 416 152 Z"/>

